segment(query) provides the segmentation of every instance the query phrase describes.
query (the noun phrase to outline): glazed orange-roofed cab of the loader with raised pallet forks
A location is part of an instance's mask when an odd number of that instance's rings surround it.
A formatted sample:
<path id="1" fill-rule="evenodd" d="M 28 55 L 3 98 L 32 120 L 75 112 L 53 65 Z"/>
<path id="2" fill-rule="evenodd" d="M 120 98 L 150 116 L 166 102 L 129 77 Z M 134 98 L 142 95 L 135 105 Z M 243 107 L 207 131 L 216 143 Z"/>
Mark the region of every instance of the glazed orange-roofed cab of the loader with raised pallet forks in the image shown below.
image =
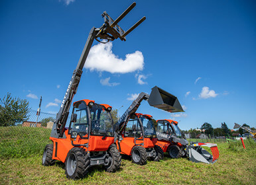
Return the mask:
<path id="1" fill-rule="evenodd" d="M 74 102 L 68 133 L 76 133 L 83 139 L 88 139 L 89 135 L 113 137 L 113 120 L 110 111 L 111 106 L 96 104 L 93 100 Z"/>

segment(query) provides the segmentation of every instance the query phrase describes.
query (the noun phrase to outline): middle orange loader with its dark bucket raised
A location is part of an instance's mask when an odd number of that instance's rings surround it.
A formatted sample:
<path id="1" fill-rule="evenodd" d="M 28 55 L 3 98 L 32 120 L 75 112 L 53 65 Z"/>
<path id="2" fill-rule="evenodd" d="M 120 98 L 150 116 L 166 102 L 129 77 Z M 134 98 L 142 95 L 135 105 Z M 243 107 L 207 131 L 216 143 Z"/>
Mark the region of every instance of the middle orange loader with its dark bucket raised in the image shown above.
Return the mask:
<path id="1" fill-rule="evenodd" d="M 156 145 L 157 135 L 152 116 L 135 113 L 142 100 L 147 100 L 149 105 L 168 112 L 175 112 L 181 108 L 176 96 L 156 86 L 150 95 L 141 92 L 121 116 L 115 125 L 118 138 L 117 149 L 121 154 L 130 155 L 133 163 L 137 165 L 145 165 L 148 158 L 153 161 L 163 158 L 162 149 Z"/>

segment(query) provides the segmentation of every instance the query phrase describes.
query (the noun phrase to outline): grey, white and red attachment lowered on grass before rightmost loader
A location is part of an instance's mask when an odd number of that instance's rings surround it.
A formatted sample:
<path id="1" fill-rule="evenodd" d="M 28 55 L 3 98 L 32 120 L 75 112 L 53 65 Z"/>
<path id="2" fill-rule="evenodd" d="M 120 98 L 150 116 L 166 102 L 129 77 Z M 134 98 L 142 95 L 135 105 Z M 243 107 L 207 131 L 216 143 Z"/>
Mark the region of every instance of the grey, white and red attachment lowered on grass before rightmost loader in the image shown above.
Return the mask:
<path id="1" fill-rule="evenodd" d="M 210 147 L 212 155 L 201 146 Z M 219 158 L 219 150 L 214 143 L 192 143 L 188 146 L 188 157 L 194 163 L 213 164 Z"/>

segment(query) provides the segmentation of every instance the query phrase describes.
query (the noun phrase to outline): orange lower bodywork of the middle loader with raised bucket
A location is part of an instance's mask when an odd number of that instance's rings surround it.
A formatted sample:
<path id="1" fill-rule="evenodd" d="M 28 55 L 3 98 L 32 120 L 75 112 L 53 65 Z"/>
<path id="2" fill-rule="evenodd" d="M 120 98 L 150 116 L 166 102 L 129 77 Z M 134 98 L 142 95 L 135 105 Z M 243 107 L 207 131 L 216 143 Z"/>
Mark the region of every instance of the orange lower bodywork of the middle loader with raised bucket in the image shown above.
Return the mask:
<path id="1" fill-rule="evenodd" d="M 142 138 L 139 138 L 142 139 Z M 138 140 L 136 139 L 136 144 L 141 144 L 142 145 L 143 140 Z M 144 138 L 144 148 L 153 148 L 155 147 L 155 144 L 157 143 L 157 138 Z M 121 154 L 125 154 L 125 155 L 131 155 L 131 150 L 133 149 L 133 147 L 135 147 L 135 138 L 134 137 L 123 137 L 123 140 L 117 141 L 117 149 L 119 149 L 119 145 L 121 148 Z M 120 149 L 119 149 L 120 151 Z"/>

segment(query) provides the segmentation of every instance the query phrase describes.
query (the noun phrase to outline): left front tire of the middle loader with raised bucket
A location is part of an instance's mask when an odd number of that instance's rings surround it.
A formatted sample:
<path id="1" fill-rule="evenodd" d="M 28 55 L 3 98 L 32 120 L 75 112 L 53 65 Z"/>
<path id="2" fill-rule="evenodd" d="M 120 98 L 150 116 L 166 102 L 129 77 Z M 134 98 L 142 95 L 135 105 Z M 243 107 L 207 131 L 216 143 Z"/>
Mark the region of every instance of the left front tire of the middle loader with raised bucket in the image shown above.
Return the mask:
<path id="1" fill-rule="evenodd" d="M 131 150 L 131 160 L 137 165 L 147 164 L 147 151 L 144 147 L 135 146 Z"/>

